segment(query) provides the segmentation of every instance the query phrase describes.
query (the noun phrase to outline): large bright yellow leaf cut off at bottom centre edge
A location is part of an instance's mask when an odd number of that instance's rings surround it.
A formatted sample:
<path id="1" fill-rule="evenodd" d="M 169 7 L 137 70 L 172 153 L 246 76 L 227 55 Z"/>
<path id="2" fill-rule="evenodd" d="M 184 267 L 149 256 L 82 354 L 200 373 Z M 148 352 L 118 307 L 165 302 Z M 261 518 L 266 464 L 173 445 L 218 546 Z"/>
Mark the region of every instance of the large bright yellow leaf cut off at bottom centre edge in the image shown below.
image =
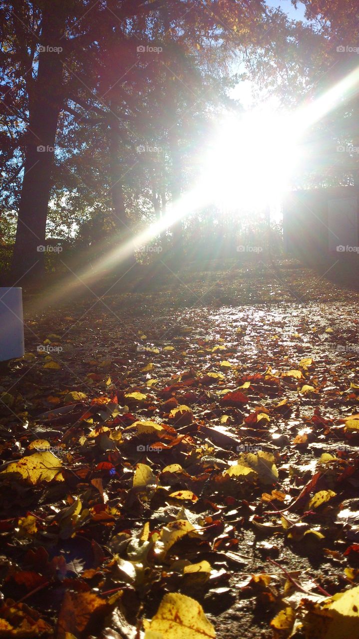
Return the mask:
<path id="1" fill-rule="evenodd" d="M 155 617 L 144 620 L 144 639 L 215 639 L 211 622 L 198 601 L 176 592 L 166 594 Z"/>

